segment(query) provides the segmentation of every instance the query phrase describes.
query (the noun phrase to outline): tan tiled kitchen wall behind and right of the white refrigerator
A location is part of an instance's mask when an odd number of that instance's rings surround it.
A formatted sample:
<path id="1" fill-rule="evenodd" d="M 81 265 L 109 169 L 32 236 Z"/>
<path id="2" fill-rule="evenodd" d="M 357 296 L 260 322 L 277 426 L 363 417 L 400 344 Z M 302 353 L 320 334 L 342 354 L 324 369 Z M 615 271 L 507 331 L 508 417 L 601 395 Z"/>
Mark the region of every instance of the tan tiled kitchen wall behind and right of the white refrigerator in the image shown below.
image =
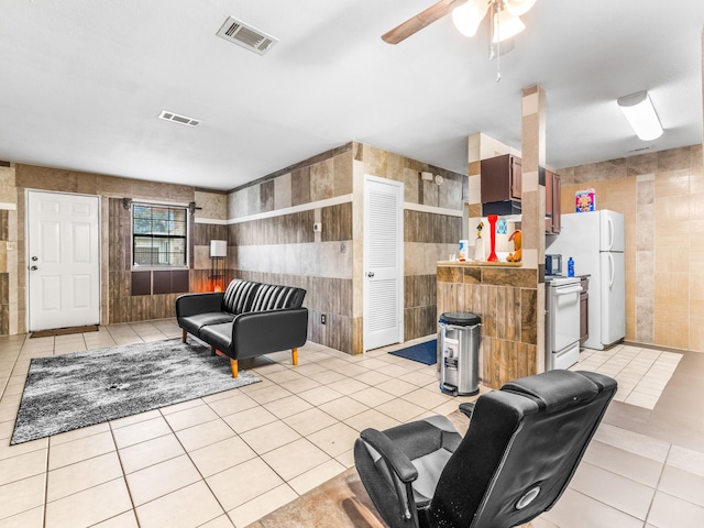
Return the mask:
<path id="1" fill-rule="evenodd" d="M 626 340 L 704 351 L 702 145 L 568 167 L 562 210 L 593 187 L 626 219 Z"/>

